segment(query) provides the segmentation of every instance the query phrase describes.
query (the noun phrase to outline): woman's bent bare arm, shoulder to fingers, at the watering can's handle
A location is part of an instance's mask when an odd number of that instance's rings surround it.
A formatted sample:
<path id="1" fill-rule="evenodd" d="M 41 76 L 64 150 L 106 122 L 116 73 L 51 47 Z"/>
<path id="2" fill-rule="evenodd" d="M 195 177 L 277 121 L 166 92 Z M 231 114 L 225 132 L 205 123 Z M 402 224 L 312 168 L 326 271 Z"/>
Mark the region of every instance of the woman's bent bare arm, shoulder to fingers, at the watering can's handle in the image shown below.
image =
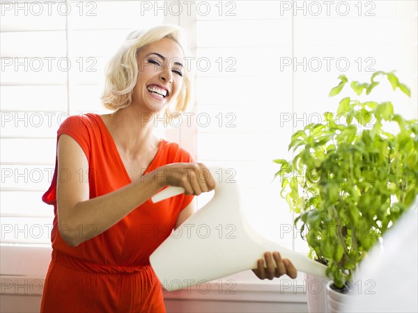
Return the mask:
<path id="1" fill-rule="evenodd" d="M 180 168 L 187 173 L 199 170 L 195 163 L 175 163 L 165 166 L 164 173 L 170 168 Z M 167 175 L 147 175 L 116 191 L 89 200 L 88 182 L 78 179 L 77 171 L 88 170 L 88 161 L 82 147 L 68 135 L 61 135 L 58 143 L 58 180 L 56 187 L 59 230 L 69 246 L 80 243 L 101 234 L 118 223 L 123 217 L 168 184 L 183 186 L 188 194 L 200 194 L 214 188 L 212 181 L 201 182 L 196 175 L 183 175 L 191 179 L 176 179 Z M 168 171 L 167 171 L 168 170 Z M 174 181 L 171 181 L 171 178 Z M 210 179 L 212 180 L 212 179 Z M 83 231 L 79 230 L 80 227 Z M 80 236 L 80 234 L 88 234 Z"/>

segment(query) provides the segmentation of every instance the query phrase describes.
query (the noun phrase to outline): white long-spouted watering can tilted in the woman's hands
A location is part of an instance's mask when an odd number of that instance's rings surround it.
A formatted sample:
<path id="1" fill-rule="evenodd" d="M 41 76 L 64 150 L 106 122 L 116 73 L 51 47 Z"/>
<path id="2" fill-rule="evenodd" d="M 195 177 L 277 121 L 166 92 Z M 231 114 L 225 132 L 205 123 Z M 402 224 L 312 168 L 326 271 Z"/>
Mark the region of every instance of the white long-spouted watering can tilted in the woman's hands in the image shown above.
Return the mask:
<path id="1" fill-rule="evenodd" d="M 216 177 L 219 170 L 225 172 L 222 168 L 210 172 Z M 151 200 L 155 203 L 184 192 L 182 187 L 169 186 Z M 223 179 L 217 182 L 212 200 L 150 255 L 150 264 L 164 288 L 175 291 L 256 268 L 257 260 L 268 251 L 280 252 L 297 271 L 327 278 L 323 264 L 257 234 L 242 214 L 238 184 Z"/>

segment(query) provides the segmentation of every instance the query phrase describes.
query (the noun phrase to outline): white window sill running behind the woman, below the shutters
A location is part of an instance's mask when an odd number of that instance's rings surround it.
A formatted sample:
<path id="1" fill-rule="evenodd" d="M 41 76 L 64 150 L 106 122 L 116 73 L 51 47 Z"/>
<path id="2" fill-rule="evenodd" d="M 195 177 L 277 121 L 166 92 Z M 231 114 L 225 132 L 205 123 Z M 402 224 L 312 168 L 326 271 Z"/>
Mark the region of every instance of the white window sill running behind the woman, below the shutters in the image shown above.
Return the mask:
<path id="1" fill-rule="evenodd" d="M 49 245 L 1 244 L 1 293 L 40 296 L 51 258 Z M 178 291 L 163 290 L 170 300 L 257 301 L 269 303 L 306 303 L 303 273 L 292 280 L 285 276 L 258 280 L 251 271 L 188 286 Z"/>

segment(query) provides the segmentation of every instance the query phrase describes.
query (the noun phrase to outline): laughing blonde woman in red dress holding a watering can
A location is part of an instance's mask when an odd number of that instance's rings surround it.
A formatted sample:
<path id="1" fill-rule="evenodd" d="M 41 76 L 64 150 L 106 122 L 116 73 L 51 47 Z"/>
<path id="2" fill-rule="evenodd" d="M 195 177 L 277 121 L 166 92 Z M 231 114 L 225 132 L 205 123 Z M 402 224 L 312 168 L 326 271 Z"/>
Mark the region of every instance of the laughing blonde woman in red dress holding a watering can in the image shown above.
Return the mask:
<path id="1" fill-rule="evenodd" d="M 150 116 L 189 102 L 182 40 L 177 26 L 130 33 L 107 69 L 102 102 L 114 113 L 71 116 L 59 128 L 54 179 L 42 198 L 55 218 L 41 312 L 165 311 L 148 257 L 194 212 L 194 195 L 215 187 L 212 177 L 197 179 L 206 166 L 153 136 Z M 186 192 L 150 202 L 168 185 Z M 277 252 L 265 263 L 254 270 L 261 279 L 296 275 Z"/>

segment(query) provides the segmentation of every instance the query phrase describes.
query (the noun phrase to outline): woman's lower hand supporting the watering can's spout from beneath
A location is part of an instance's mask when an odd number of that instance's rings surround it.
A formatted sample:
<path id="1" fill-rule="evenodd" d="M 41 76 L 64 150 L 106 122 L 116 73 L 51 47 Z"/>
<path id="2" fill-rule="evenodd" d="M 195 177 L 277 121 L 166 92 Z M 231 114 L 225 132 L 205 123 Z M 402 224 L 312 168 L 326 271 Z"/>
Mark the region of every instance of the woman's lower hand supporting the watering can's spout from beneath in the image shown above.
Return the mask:
<path id="1" fill-rule="evenodd" d="M 273 278 L 279 278 L 281 275 L 288 275 L 290 278 L 296 278 L 297 271 L 295 266 L 289 259 L 281 259 L 279 252 L 265 252 L 264 259 L 258 259 L 257 268 L 252 271 L 261 280 L 272 280 Z"/>

